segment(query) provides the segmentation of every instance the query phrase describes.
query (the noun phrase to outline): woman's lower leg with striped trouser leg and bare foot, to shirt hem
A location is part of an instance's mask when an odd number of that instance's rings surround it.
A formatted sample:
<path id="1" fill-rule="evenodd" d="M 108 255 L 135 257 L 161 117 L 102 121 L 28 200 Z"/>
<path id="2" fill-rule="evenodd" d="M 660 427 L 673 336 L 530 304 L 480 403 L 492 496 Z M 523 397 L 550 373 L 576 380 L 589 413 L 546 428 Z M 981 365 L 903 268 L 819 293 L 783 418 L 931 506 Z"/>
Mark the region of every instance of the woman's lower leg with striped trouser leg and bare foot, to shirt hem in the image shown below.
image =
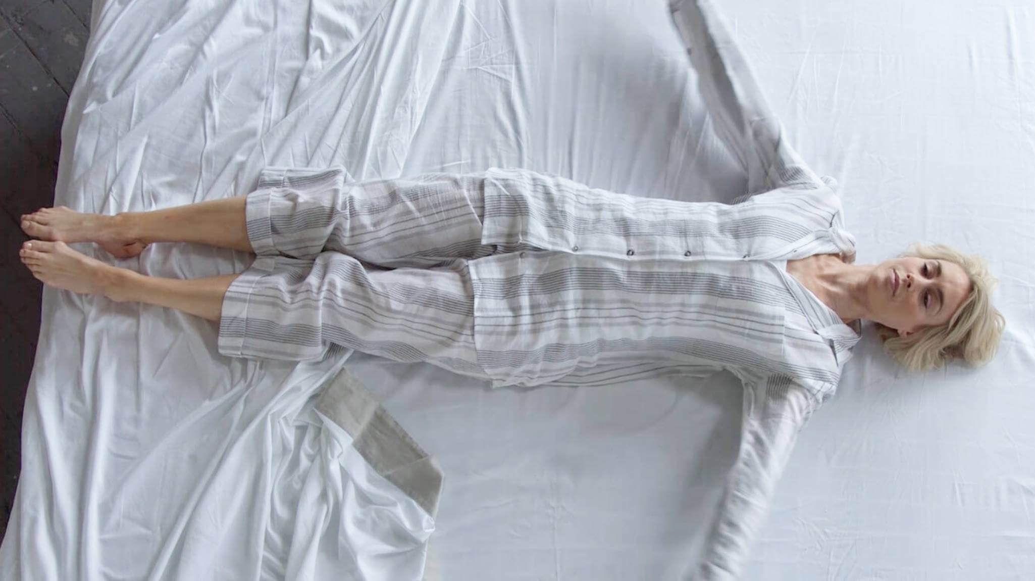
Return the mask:
<path id="1" fill-rule="evenodd" d="M 52 287 L 219 321 L 224 355 L 301 360 L 336 344 L 489 378 L 478 362 L 474 298 L 462 270 L 367 271 L 354 258 L 325 253 L 315 261 L 260 258 L 284 263 L 270 271 L 178 281 L 106 264 L 61 241 L 25 242 L 21 256 Z"/>

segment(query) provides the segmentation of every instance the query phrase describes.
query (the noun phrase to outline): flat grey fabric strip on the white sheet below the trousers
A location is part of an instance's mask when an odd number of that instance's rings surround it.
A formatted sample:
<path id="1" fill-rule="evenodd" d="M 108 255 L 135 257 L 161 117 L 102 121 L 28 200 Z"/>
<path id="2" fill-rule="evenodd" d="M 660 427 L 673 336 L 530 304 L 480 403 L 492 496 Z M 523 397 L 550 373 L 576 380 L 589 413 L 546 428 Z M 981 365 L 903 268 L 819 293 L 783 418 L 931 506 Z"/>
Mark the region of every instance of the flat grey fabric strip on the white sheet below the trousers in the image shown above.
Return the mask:
<path id="1" fill-rule="evenodd" d="M 317 411 L 353 437 L 356 452 L 379 474 L 435 517 L 442 469 L 355 376 L 343 369 L 320 396 Z"/>

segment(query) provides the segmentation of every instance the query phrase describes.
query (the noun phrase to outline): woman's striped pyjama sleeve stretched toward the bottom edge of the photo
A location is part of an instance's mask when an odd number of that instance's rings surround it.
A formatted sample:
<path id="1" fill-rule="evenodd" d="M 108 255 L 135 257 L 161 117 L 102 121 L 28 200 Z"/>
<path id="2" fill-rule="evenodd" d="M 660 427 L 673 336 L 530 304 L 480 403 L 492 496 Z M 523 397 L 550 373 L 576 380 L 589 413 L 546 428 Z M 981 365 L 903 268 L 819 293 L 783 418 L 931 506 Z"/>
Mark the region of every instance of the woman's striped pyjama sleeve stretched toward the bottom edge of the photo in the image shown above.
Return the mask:
<path id="1" fill-rule="evenodd" d="M 786 375 L 744 387 L 740 448 L 693 581 L 740 579 L 798 432 L 820 405 L 816 387 Z"/>

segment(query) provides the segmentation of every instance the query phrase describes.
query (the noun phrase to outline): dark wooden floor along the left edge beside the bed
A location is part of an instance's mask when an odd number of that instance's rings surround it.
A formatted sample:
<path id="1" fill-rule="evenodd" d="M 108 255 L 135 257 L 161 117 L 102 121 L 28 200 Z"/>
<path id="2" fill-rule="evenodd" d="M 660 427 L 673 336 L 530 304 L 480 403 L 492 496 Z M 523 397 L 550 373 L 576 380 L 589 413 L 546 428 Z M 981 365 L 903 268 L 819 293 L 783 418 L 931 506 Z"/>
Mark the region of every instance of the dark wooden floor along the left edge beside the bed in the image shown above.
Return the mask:
<path id="1" fill-rule="evenodd" d="M 54 202 L 61 120 L 89 35 L 90 0 L 0 0 L 0 534 L 21 466 L 22 410 L 40 285 L 18 260 L 19 216 Z"/>

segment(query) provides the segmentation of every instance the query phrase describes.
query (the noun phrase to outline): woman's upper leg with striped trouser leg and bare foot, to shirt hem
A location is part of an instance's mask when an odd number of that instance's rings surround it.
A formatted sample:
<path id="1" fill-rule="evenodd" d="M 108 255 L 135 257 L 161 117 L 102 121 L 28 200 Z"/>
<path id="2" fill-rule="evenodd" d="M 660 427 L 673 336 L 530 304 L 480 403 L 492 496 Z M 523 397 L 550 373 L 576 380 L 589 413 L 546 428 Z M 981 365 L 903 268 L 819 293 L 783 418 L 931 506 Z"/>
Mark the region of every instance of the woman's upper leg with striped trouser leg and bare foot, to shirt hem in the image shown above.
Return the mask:
<path id="1" fill-rule="evenodd" d="M 426 268 L 496 252 L 481 243 L 483 176 L 346 178 L 341 170 L 271 174 L 250 196 L 114 216 L 43 208 L 23 215 L 22 229 L 43 240 L 96 242 L 119 258 L 150 242 L 199 242 L 307 260 L 335 251 L 389 268 Z"/>

